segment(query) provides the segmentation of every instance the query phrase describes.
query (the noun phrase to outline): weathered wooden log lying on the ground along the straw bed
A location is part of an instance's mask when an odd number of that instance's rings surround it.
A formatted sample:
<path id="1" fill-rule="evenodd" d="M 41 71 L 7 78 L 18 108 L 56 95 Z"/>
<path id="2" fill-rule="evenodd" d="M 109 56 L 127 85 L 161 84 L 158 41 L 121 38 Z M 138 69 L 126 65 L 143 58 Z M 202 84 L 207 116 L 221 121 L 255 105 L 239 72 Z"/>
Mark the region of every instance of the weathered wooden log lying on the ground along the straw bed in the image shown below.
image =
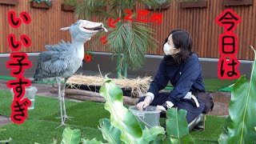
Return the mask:
<path id="1" fill-rule="evenodd" d="M 58 94 L 58 89 L 52 89 L 52 90 L 50 90 L 50 93 Z M 74 97 L 74 95 L 75 95 L 75 96 L 77 96 L 76 99 L 80 98 L 78 100 L 85 99 L 85 100 L 94 101 L 94 99 L 95 99 L 95 101 L 102 102 L 102 101 L 98 100 L 98 98 L 102 98 L 102 96 L 100 94 L 98 94 L 96 92 L 87 91 L 87 90 L 66 89 L 65 94 L 66 94 L 66 98 L 69 98 L 70 95 L 73 95 L 71 97 Z M 82 97 L 91 97 L 91 98 L 82 98 Z M 103 98 L 103 99 L 105 100 L 105 98 Z M 130 98 L 130 97 L 123 96 L 122 99 L 123 99 L 124 104 L 127 104 L 127 105 L 136 105 L 138 102 L 138 98 Z"/>

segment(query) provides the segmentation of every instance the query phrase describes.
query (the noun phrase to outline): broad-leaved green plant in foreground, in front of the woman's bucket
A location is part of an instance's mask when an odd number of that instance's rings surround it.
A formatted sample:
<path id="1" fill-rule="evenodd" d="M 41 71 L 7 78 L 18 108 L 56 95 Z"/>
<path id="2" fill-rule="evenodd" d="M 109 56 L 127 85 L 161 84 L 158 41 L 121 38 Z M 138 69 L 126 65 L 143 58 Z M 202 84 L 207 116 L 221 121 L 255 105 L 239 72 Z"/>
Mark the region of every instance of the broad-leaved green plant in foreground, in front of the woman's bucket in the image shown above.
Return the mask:
<path id="1" fill-rule="evenodd" d="M 142 130 L 134 114 L 122 102 L 122 90 L 109 78 L 101 86 L 100 94 L 106 98 L 105 109 L 110 119 L 102 118 L 98 129 L 109 143 L 194 143 L 186 122 L 186 110 L 172 108 L 167 111 L 166 131 L 162 126 Z M 62 143 L 102 143 L 96 139 L 81 139 L 80 130 L 67 127 L 62 134 Z"/>

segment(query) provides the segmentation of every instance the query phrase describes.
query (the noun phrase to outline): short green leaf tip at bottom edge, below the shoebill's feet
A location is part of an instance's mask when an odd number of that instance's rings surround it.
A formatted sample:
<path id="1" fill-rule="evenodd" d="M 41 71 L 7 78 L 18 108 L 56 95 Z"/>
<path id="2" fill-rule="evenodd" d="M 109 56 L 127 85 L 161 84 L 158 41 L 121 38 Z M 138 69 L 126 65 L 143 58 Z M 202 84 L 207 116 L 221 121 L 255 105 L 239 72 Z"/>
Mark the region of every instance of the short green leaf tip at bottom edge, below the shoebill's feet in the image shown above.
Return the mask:
<path id="1" fill-rule="evenodd" d="M 81 131 L 78 129 L 71 130 L 69 127 L 66 127 L 62 134 L 62 143 L 63 144 L 74 144 L 79 143 L 81 138 Z"/>

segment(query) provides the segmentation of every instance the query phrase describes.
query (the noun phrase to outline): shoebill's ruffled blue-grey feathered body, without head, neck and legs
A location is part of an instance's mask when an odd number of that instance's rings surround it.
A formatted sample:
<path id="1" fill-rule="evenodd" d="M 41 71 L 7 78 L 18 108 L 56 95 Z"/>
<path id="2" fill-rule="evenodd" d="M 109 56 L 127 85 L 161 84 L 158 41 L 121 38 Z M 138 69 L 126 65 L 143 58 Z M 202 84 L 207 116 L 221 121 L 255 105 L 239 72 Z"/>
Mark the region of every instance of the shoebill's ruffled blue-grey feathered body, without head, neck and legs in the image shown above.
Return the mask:
<path id="1" fill-rule="evenodd" d="M 82 67 L 77 51 L 70 47 L 70 42 L 59 42 L 58 45 L 46 46 L 48 51 L 38 55 L 38 68 L 34 78 L 69 78 Z"/>

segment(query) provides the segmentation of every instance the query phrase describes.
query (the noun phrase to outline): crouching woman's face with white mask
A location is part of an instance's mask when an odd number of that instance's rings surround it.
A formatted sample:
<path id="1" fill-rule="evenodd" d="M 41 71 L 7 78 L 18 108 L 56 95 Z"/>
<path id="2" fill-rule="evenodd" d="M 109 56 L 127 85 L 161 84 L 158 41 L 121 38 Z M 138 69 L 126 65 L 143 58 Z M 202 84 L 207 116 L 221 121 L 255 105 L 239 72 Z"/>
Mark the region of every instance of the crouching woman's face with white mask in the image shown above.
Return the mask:
<path id="1" fill-rule="evenodd" d="M 174 55 L 180 51 L 179 48 L 177 49 L 174 47 L 172 34 L 170 34 L 168 42 L 166 42 L 165 45 L 163 46 L 163 51 L 165 52 L 166 55 Z"/>

